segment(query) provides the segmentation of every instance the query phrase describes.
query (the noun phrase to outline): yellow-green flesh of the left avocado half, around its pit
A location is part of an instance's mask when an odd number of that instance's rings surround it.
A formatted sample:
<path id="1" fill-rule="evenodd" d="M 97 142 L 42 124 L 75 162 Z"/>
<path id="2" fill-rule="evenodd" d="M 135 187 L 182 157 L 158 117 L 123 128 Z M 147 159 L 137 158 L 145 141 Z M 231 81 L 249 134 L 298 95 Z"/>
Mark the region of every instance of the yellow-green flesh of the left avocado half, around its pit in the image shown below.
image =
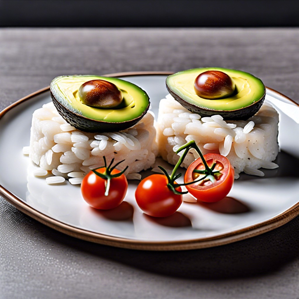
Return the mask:
<path id="1" fill-rule="evenodd" d="M 106 80 L 123 92 L 123 102 L 114 109 L 100 109 L 83 104 L 78 95 L 79 87 L 90 80 Z M 149 97 L 133 83 L 111 77 L 61 76 L 51 82 L 51 93 L 69 111 L 93 120 L 120 123 L 136 119 L 147 111 Z"/>

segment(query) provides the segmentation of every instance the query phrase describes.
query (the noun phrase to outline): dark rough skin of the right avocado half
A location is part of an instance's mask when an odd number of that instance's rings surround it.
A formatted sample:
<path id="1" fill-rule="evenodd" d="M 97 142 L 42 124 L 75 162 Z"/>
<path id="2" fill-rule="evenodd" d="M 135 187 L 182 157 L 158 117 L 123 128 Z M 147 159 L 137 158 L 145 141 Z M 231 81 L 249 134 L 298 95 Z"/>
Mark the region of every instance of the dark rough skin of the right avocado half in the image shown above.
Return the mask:
<path id="1" fill-rule="evenodd" d="M 199 114 L 202 117 L 221 115 L 224 120 L 248 120 L 248 118 L 251 118 L 260 110 L 266 97 L 266 88 L 265 88 L 265 93 L 263 97 L 261 97 L 260 100 L 254 102 L 253 104 L 247 107 L 236 109 L 236 110 L 213 110 L 205 107 L 196 106 L 181 98 L 178 99 L 177 94 L 171 91 L 167 85 L 166 88 L 169 91 L 169 93 L 174 97 L 174 99 L 178 101 L 184 108 L 186 108 L 190 112 Z"/>

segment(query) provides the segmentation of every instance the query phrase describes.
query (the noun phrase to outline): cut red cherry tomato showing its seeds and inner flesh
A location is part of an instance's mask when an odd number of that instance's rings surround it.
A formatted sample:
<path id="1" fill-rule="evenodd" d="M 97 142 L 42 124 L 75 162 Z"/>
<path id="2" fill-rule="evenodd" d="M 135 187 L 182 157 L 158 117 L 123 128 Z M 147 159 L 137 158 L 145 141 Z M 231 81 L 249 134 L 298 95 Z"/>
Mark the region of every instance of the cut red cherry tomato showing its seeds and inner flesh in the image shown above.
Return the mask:
<path id="1" fill-rule="evenodd" d="M 186 185 L 186 188 L 194 197 L 203 202 L 218 202 L 228 195 L 234 184 L 234 167 L 231 166 L 228 158 L 219 154 L 206 154 L 204 158 L 209 167 L 216 163 L 214 171 L 219 170 L 218 175 L 215 174 L 214 181 L 202 180 L 195 184 Z M 205 170 L 201 158 L 196 159 L 188 167 L 184 176 L 185 183 L 199 179 L 199 176 L 204 176 L 193 172 L 195 169 Z"/>

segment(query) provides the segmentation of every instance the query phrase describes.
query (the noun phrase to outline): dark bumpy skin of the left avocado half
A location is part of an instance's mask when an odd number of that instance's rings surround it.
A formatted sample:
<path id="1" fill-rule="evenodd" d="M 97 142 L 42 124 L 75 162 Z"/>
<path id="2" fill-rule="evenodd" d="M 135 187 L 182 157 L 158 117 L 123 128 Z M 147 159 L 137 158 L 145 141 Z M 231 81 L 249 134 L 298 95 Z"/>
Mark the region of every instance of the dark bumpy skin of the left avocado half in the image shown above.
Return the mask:
<path id="1" fill-rule="evenodd" d="M 144 117 L 147 110 L 149 109 L 149 104 L 147 108 L 145 109 L 144 113 L 140 115 L 138 118 L 123 121 L 120 123 L 112 123 L 112 122 L 106 122 L 106 121 L 100 121 L 100 120 L 93 120 L 91 118 L 87 118 L 83 115 L 80 115 L 78 113 L 74 113 L 67 109 L 65 106 L 63 106 L 54 96 L 54 94 L 51 91 L 51 98 L 54 103 L 54 106 L 56 107 L 58 113 L 64 118 L 71 126 L 75 127 L 78 130 L 84 131 L 84 132 L 92 132 L 92 133 L 105 133 L 105 132 L 115 132 L 115 131 L 122 131 L 125 129 L 128 129 L 132 126 L 134 126 L 136 123 L 138 123 L 141 118 Z"/>

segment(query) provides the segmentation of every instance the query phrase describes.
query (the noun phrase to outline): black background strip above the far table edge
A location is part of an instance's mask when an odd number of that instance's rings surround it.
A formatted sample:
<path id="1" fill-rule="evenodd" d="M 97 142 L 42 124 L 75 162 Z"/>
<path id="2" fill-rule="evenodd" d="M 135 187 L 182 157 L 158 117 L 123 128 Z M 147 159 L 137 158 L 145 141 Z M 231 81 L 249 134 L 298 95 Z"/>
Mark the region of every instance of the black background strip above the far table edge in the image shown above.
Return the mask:
<path id="1" fill-rule="evenodd" d="M 297 27 L 298 0 L 0 0 L 0 27 Z"/>

